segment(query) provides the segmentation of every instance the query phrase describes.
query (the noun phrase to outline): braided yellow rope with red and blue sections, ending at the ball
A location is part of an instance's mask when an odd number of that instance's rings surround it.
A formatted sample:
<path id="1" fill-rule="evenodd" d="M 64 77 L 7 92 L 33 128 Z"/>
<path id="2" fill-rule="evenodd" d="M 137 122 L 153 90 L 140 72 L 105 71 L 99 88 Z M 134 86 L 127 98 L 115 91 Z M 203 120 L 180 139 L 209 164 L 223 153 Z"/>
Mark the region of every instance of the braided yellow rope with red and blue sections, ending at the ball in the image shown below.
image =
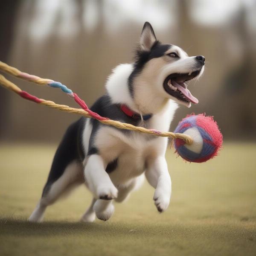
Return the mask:
<path id="1" fill-rule="evenodd" d="M 0 75 L 0 84 L 2 84 L 3 87 L 17 93 L 19 96 L 23 97 L 24 99 L 28 99 L 30 101 L 36 102 L 41 105 L 48 106 L 50 108 L 55 108 L 60 111 L 64 111 L 64 112 L 68 112 L 68 113 L 76 113 L 76 114 L 86 116 L 89 118 L 94 118 L 94 119 L 97 119 L 99 122 L 102 122 L 105 125 L 112 125 L 119 129 L 137 131 L 137 132 L 141 132 L 141 133 L 145 133 L 145 134 L 152 134 L 152 135 L 160 136 L 160 137 L 171 137 L 173 139 L 180 138 L 180 139 L 184 140 L 184 142 L 188 145 L 191 145 L 193 142 L 193 139 L 190 136 L 185 135 L 185 134 L 179 134 L 179 133 L 173 133 L 173 132 L 162 132 L 162 131 L 158 131 L 155 129 L 146 129 L 143 127 L 134 126 L 134 125 L 119 122 L 119 121 L 114 121 L 114 120 L 108 119 L 107 117 L 102 117 L 99 114 L 91 111 L 87 107 L 85 102 L 82 99 L 80 99 L 76 93 L 73 93 L 72 90 L 70 90 L 66 85 L 61 84 L 60 82 L 56 82 L 51 79 L 42 79 L 38 76 L 34 76 L 34 75 L 30 75 L 28 73 L 21 72 L 20 70 L 17 70 L 15 67 L 11 67 L 1 61 L 0 61 L 0 70 L 4 71 L 5 73 L 8 73 L 12 76 L 16 76 L 20 79 L 26 80 L 26 81 L 34 82 L 34 83 L 40 84 L 40 85 L 48 85 L 48 86 L 54 87 L 54 88 L 60 88 L 64 93 L 67 93 L 68 96 L 73 98 L 76 101 L 76 103 L 81 106 L 82 109 L 81 108 L 80 109 L 79 108 L 70 108 L 67 105 L 59 105 L 59 104 L 56 104 L 55 102 L 52 102 L 49 100 L 39 99 L 38 97 L 33 96 L 33 95 L 27 93 L 26 91 L 21 90 L 19 87 L 17 87 L 17 85 L 15 85 L 11 81 L 7 80 L 3 75 Z"/>

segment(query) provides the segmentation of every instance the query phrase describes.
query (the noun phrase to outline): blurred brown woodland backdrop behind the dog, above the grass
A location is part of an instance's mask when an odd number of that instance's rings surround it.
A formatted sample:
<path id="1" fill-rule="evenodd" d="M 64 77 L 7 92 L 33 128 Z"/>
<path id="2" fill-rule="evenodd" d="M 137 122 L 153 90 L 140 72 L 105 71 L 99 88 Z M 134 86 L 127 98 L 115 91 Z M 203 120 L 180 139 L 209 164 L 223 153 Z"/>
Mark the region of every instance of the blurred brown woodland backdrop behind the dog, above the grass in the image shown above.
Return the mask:
<path id="1" fill-rule="evenodd" d="M 255 140 L 255 0 L 8 0 L 0 9 L 0 60 L 61 81 L 91 105 L 120 63 L 131 62 L 145 21 L 157 38 L 204 55 L 199 99 L 180 107 L 215 116 L 224 140 Z M 60 90 L 9 79 L 39 98 L 78 107 Z M 78 116 L 28 102 L 0 87 L 0 140 L 52 142 Z"/>

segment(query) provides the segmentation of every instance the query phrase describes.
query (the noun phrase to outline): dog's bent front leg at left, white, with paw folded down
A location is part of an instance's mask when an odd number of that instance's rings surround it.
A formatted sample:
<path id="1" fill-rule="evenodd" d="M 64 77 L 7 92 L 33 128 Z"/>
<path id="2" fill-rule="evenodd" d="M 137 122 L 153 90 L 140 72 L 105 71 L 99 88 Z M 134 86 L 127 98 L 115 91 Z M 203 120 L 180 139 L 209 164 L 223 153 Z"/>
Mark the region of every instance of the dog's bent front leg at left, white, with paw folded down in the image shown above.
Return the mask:
<path id="1" fill-rule="evenodd" d="M 104 161 L 98 154 L 90 155 L 84 167 L 85 182 L 95 198 L 111 200 L 117 198 L 118 190 L 105 171 Z"/>

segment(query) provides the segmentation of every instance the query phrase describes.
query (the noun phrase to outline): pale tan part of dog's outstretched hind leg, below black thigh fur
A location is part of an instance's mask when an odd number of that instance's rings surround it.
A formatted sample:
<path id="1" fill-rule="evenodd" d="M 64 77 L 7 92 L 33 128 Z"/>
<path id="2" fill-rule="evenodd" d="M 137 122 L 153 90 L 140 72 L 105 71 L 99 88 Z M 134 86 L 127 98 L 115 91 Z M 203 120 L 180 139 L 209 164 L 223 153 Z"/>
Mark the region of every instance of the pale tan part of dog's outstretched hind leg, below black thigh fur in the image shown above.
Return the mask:
<path id="1" fill-rule="evenodd" d="M 73 188 L 83 183 L 82 165 L 77 161 L 70 163 L 63 175 L 54 183 L 47 183 L 43 195 L 29 217 L 29 221 L 41 222 L 44 212 L 50 204 L 53 204 L 61 196 L 67 195 Z"/>

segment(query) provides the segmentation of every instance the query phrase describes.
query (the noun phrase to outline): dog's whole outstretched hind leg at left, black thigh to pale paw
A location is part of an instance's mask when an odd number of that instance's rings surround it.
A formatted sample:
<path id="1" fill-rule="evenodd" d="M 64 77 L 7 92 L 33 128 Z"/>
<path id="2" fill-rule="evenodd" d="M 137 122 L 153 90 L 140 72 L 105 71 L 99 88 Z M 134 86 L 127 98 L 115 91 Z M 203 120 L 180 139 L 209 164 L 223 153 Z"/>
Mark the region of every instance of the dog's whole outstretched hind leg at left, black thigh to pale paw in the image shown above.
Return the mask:
<path id="1" fill-rule="evenodd" d="M 53 204 L 64 192 L 84 182 L 81 160 L 84 154 L 79 143 L 83 126 L 84 119 L 80 118 L 67 129 L 55 153 L 41 200 L 29 221 L 42 221 L 49 204 Z"/>

